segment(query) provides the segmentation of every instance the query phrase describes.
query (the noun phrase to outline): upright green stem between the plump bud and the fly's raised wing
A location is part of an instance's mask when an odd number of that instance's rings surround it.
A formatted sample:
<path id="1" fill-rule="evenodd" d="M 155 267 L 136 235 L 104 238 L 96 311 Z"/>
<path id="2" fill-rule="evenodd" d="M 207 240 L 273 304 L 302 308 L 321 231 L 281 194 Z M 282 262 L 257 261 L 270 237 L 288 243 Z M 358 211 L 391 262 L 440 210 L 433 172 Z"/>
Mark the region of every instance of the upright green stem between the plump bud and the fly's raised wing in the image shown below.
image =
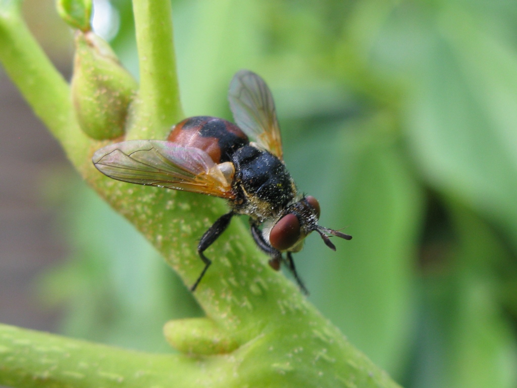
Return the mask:
<path id="1" fill-rule="evenodd" d="M 174 54 L 171 2 L 133 0 L 140 91 L 127 139 L 164 139 L 183 116 Z"/>

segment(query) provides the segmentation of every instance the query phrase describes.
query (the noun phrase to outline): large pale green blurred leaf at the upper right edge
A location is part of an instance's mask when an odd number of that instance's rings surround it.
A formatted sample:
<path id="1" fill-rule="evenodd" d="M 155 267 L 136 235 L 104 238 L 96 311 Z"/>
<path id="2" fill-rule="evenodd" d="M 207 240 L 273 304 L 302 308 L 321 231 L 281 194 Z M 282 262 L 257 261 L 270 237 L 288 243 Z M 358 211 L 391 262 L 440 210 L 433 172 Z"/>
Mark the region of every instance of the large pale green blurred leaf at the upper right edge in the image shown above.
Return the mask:
<path id="1" fill-rule="evenodd" d="M 407 111 L 414 157 L 431 185 L 496 219 L 517 246 L 517 54 L 456 9 L 439 21 Z"/>

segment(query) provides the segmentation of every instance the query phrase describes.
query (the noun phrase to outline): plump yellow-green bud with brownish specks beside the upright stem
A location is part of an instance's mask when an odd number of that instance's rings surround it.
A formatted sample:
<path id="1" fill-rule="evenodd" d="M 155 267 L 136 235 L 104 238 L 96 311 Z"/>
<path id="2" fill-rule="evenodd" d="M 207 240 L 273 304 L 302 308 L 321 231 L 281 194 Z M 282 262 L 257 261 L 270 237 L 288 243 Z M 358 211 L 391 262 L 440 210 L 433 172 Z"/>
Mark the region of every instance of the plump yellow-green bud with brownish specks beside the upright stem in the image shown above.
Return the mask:
<path id="1" fill-rule="evenodd" d="M 137 88 L 106 41 L 92 32 L 76 33 L 72 100 L 86 135 L 97 140 L 123 135 Z"/>

